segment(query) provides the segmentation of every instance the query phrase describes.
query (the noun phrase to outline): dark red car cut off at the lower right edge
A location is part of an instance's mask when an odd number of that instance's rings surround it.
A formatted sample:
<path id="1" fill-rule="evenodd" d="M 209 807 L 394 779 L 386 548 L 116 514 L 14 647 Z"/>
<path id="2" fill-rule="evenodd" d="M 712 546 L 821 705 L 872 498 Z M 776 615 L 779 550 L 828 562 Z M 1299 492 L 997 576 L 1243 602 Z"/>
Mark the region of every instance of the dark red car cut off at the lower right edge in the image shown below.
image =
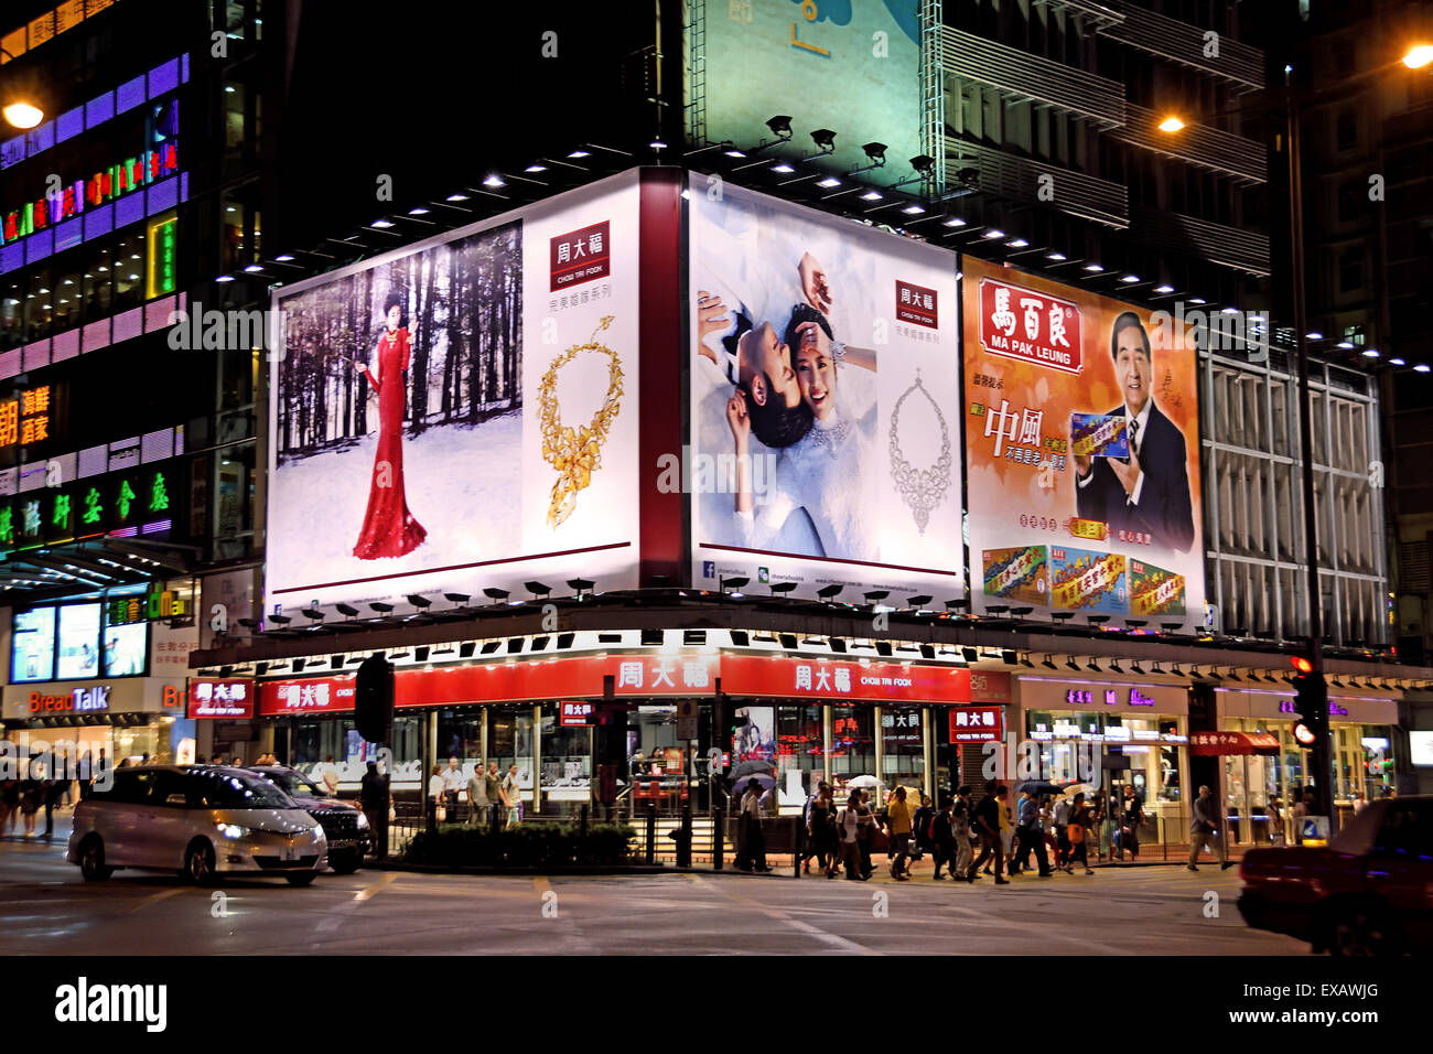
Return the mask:
<path id="1" fill-rule="evenodd" d="M 1433 796 L 1371 802 L 1327 846 L 1251 849 L 1240 913 L 1315 952 L 1433 949 Z"/>

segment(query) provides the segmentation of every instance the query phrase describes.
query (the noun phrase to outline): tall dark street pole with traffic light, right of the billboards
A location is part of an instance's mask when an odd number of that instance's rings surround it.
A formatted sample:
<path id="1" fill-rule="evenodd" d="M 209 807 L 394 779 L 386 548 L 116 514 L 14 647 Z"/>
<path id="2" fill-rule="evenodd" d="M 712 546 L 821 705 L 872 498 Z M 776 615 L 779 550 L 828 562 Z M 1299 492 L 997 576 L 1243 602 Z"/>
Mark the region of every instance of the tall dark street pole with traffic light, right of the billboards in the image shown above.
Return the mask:
<path id="1" fill-rule="evenodd" d="M 1290 244 L 1293 248 L 1294 267 L 1294 340 L 1298 348 L 1298 456 L 1303 465 L 1303 503 L 1304 503 L 1304 559 L 1308 572 L 1308 661 L 1313 665 L 1313 677 L 1324 680 L 1324 619 L 1323 594 L 1318 587 L 1318 516 L 1314 495 L 1314 433 L 1313 433 L 1313 396 L 1308 390 L 1308 333 L 1304 305 L 1304 188 L 1303 162 L 1300 158 L 1298 136 L 1298 89 L 1288 85 L 1288 211 L 1290 211 Z M 1323 704 L 1327 707 L 1327 703 Z M 1308 716 L 1304 714 L 1307 718 Z M 1327 816 L 1330 827 L 1334 826 L 1334 796 L 1333 796 L 1333 749 L 1327 733 L 1328 714 L 1318 714 L 1317 727 L 1323 728 L 1308 749 L 1310 766 L 1305 774 L 1304 787 L 1313 780 L 1314 804 L 1317 815 Z"/>

